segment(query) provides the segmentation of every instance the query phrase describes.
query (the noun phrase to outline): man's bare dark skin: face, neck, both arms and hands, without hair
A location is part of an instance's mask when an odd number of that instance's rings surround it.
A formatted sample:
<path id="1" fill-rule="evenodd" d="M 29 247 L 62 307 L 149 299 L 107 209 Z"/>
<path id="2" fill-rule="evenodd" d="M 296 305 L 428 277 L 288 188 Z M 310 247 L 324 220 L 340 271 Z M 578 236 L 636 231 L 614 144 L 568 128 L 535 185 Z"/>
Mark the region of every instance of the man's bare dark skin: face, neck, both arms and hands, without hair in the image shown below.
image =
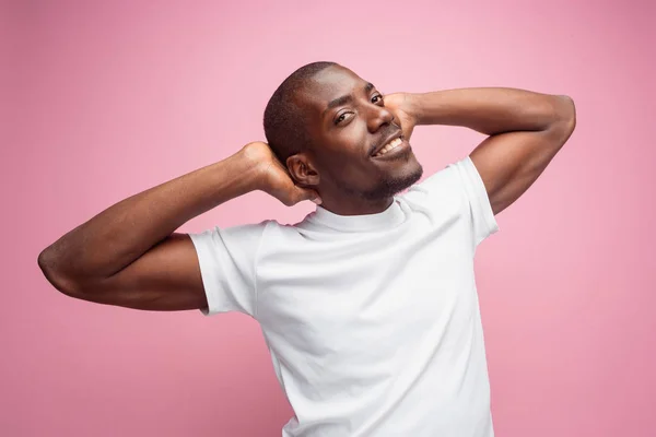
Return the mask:
<path id="1" fill-rule="evenodd" d="M 537 180 L 576 125 L 567 96 L 461 88 L 382 98 L 339 66 L 317 73 L 296 98 L 307 108 L 313 143 L 286 167 L 266 143 L 253 142 L 226 160 L 127 198 L 42 251 L 38 264 L 46 279 L 68 296 L 99 304 L 207 308 L 195 247 L 176 229 L 221 203 L 261 190 L 285 205 L 319 202 L 320 194 L 323 208 L 337 214 L 382 212 L 394 193 L 421 176 L 408 142 L 414 127 L 449 125 L 489 135 L 470 157 L 497 214 Z M 401 133 L 402 146 L 371 156 Z"/>

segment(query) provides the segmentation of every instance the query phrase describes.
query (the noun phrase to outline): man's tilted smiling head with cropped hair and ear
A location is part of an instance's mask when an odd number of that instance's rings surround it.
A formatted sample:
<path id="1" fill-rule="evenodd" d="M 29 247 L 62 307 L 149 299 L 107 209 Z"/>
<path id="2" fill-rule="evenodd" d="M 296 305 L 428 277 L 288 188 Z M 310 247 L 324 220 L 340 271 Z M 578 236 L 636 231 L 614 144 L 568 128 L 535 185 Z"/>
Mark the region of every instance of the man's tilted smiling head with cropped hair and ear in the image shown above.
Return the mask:
<path id="1" fill-rule="evenodd" d="M 335 62 L 309 63 L 283 81 L 265 110 L 265 133 L 294 181 L 317 190 L 327 208 L 380 204 L 422 175 L 383 95 Z M 397 150 L 375 156 L 399 138 Z"/>

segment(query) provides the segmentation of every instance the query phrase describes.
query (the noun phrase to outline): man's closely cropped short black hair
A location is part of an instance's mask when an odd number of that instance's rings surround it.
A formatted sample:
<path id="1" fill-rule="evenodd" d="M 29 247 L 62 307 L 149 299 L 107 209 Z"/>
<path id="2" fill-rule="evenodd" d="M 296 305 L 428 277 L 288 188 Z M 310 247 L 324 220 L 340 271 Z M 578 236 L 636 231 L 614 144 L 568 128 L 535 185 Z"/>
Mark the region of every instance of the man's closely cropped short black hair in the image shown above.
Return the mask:
<path id="1" fill-rule="evenodd" d="M 302 152 L 309 143 L 303 108 L 294 103 L 294 93 L 305 82 L 336 62 L 307 63 L 290 74 L 278 86 L 265 109 L 265 135 L 276 157 L 284 166 L 288 157 Z"/>

